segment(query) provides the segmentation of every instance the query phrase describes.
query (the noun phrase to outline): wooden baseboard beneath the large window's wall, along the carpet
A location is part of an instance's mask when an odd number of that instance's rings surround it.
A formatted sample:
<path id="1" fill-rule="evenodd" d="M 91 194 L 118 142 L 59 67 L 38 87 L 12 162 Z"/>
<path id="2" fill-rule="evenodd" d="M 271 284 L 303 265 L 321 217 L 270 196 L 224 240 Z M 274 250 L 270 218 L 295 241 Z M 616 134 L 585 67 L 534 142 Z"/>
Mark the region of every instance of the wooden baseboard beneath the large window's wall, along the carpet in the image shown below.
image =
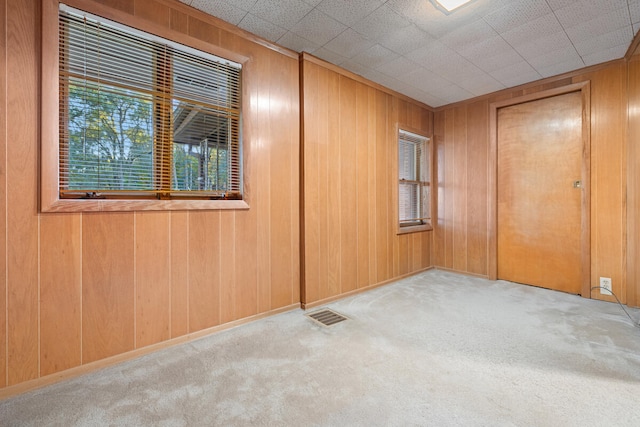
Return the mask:
<path id="1" fill-rule="evenodd" d="M 202 329 L 200 331 L 191 332 L 189 334 L 172 338 L 167 341 L 162 341 L 157 344 L 152 344 L 147 347 L 138 348 L 135 350 L 128 351 L 126 353 L 107 357 L 106 359 L 101 359 L 95 362 L 87 363 L 86 365 L 76 366 L 74 368 L 70 368 L 61 372 L 56 372 L 55 374 L 50 374 L 44 377 L 21 382 L 19 384 L 15 384 L 15 385 L 0 389 L 0 400 L 17 396 L 19 394 L 26 393 L 28 391 L 32 391 L 41 387 L 52 385 L 60 381 L 75 378 L 80 375 L 88 374 L 90 372 L 95 372 L 103 368 L 117 365 L 118 363 L 133 360 L 140 356 L 144 356 L 146 354 L 153 353 L 158 350 L 163 350 L 165 348 L 174 347 L 176 345 L 192 342 L 217 332 L 225 331 L 227 329 L 231 329 L 237 326 L 251 323 L 255 320 L 264 319 L 265 317 L 270 317 L 276 314 L 286 313 L 286 312 L 298 310 L 298 309 L 300 309 L 300 303 L 291 304 L 285 307 L 277 308 L 275 310 L 270 310 L 264 313 L 260 313 L 260 314 L 245 317 L 242 319 L 234 320 L 232 322 L 224 323 L 222 325 L 216 325 L 207 329 Z"/>

